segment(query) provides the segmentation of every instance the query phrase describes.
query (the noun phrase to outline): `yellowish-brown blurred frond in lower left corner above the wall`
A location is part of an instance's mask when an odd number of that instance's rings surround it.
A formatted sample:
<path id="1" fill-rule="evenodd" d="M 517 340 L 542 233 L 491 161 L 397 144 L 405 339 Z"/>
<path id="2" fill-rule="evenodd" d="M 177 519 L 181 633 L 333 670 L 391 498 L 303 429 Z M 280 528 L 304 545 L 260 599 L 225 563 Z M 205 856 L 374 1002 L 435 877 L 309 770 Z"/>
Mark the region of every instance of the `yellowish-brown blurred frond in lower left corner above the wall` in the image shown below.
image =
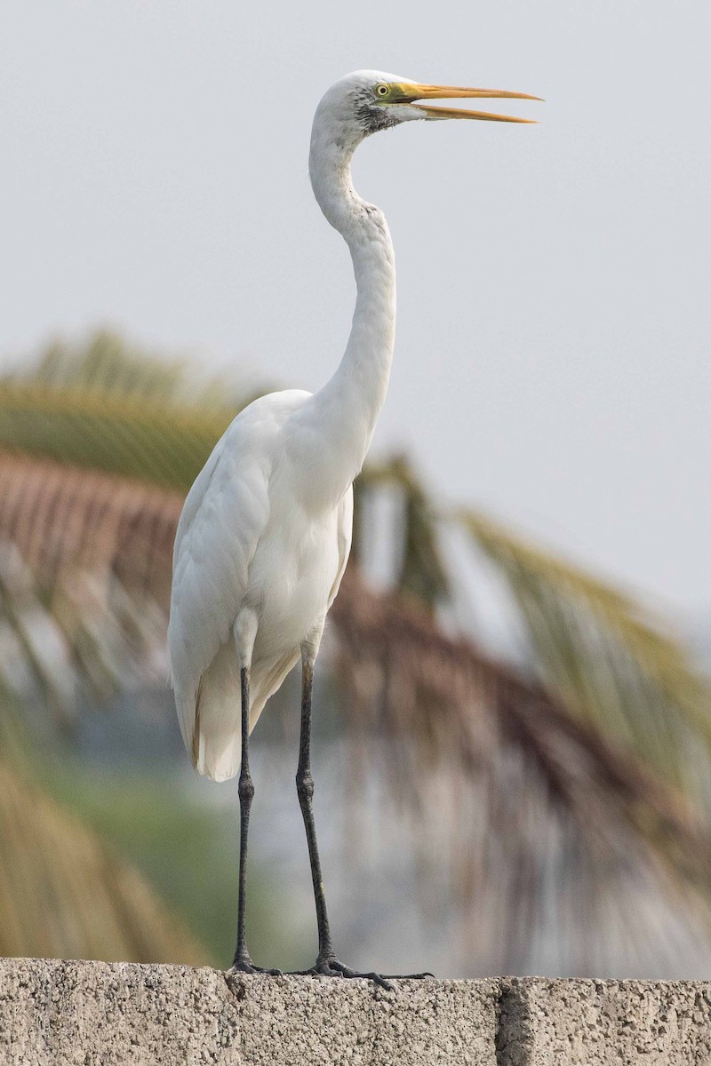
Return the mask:
<path id="1" fill-rule="evenodd" d="M 209 965 L 144 877 L 47 795 L 4 692 L 0 753 L 0 955 Z"/>

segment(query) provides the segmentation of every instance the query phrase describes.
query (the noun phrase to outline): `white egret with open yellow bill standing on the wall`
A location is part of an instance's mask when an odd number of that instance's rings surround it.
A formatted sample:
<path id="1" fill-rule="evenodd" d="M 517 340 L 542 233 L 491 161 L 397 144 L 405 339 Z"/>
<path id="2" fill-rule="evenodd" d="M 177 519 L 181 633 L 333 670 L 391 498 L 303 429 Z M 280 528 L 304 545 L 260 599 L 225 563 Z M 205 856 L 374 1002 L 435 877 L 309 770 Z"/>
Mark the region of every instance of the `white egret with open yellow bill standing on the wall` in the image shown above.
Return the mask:
<path id="1" fill-rule="evenodd" d="M 311 684 L 326 613 L 351 548 L 353 480 L 385 400 L 395 323 L 395 270 L 383 212 L 358 196 L 351 159 L 370 133 L 414 119 L 522 118 L 432 106 L 432 99 L 523 93 L 422 85 L 359 70 L 317 108 L 309 173 L 327 221 L 353 259 L 357 298 L 345 354 L 314 394 L 273 392 L 242 410 L 188 494 L 175 542 L 168 642 L 180 728 L 200 774 L 238 772 L 240 871 L 233 967 L 261 970 L 245 939 L 247 830 L 254 786 L 248 739 L 269 697 L 302 661 L 296 788 L 319 930 L 311 973 L 357 974 L 334 954 L 311 797 Z M 263 972 L 263 971 L 262 971 Z M 268 971 L 275 972 L 275 971 Z"/>

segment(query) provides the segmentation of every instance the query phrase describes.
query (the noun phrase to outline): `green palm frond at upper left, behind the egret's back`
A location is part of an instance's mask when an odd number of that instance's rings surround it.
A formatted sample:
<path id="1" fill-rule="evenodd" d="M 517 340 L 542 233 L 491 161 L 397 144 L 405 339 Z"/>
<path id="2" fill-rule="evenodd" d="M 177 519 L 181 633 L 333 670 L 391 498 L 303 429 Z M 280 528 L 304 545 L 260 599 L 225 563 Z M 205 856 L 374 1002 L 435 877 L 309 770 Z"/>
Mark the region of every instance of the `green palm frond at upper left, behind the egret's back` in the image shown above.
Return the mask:
<path id="1" fill-rule="evenodd" d="M 0 449 L 187 491 L 230 421 L 255 398 L 199 387 L 180 362 L 95 334 L 55 343 L 0 378 Z"/>

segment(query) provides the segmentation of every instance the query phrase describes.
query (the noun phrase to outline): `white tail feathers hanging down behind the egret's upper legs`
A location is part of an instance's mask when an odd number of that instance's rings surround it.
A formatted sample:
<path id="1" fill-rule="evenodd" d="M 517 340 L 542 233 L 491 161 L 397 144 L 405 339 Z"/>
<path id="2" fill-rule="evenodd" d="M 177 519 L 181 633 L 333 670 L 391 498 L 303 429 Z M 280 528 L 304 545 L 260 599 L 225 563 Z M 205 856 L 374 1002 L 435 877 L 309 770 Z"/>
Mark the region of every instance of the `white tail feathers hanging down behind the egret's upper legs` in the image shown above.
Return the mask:
<path id="1" fill-rule="evenodd" d="M 251 672 L 249 732 L 264 704 L 296 664 L 298 651 L 274 664 Z M 224 644 L 200 678 L 195 697 L 184 700 L 176 692 L 178 717 L 185 747 L 199 774 L 226 781 L 240 772 L 241 685 L 235 645 Z"/>

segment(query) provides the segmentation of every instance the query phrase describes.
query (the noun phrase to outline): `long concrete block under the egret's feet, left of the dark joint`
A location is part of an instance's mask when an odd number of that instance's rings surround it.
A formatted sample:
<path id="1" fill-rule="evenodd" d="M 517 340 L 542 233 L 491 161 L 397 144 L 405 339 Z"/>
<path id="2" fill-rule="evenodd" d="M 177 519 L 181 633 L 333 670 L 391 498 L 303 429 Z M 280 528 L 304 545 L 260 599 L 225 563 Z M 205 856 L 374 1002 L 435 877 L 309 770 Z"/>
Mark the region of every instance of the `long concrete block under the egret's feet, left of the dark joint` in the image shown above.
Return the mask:
<path id="1" fill-rule="evenodd" d="M 496 1066 L 498 984 L 0 959 L 5 1066 Z"/>

